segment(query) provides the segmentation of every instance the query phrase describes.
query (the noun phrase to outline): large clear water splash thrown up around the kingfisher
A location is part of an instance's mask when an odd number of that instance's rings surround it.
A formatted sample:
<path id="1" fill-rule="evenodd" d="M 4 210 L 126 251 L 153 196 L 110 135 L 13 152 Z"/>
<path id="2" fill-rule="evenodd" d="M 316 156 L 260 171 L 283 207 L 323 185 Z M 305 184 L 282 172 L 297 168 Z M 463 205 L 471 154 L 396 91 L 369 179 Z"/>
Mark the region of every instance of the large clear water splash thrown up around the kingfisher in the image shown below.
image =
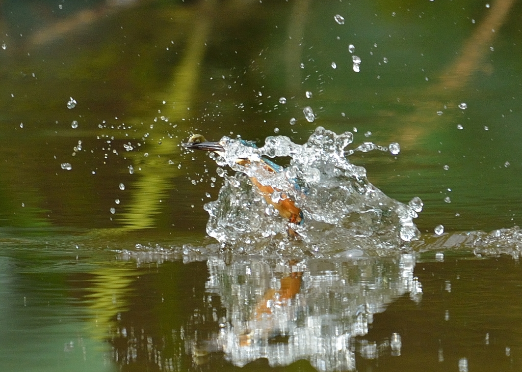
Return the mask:
<path id="1" fill-rule="evenodd" d="M 223 137 L 219 142 L 225 151 L 212 154 L 219 166 L 236 170 L 224 176 L 218 200 L 205 205 L 209 213 L 207 233 L 222 244 L 239 246 L 241 250 L 288 250 L 304 247 L 316 256 L 345 255 L 353 250 L 367 254 L 383 254 L 396 250 L 405 242 L 418 239 L 420 232 L 413 223 L 422 201 L 412 206 L 391 199 L 366 178 L 366 169 L 346 158 L 354 151 L 382 150 L 388 147 L 371 142 L 348 150 L 353 134 L 336 134 L 318 127 L 309 140 L 295 144 L 288 137 L 268 137 L 263 147 L 254 147 L 239 139 Z M 248 166 L 236 159 L 290 157 L 287 168 L 268 171 L 260 162 Z M 280 170 L 280 171 L 279 171 Z M 274 188 L 272 200 L 290 197 L 301 208 L 304 222 L 291 224 L 270 208 L 266 195 L 253 187 L 249 177 Z M 419 207 L 420 206 L 420 207 Z M 289 226 L 299 239 L 289 237 Z"/>

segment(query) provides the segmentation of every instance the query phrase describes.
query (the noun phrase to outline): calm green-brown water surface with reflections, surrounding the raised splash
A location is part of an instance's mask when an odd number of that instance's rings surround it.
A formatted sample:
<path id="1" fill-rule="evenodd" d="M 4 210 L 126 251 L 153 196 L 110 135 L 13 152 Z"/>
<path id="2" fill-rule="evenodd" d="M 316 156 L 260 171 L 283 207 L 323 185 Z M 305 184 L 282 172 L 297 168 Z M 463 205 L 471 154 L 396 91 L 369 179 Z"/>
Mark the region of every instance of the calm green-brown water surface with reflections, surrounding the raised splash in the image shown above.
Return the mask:
<path id="1" fill-rule="evenodd" d="M 519 370 L 521 11 L 1 2 L 0 369 Z M 317 126 L 400 144 L 350 161 L 421 197 L 421 241 L 351 261 L 213 251 L 221 179 L 180 143 Z"/>

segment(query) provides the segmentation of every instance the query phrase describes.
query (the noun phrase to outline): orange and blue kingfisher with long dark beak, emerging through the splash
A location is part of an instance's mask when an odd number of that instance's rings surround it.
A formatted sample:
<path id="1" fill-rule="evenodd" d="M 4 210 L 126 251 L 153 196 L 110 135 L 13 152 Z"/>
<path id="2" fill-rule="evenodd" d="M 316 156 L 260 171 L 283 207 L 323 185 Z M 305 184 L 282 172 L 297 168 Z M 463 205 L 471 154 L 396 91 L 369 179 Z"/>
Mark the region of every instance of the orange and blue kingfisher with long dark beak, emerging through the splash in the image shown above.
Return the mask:
<path id="1" fill-rule="evenodd" d="M 252 143 L 244 141 L 245 145 L 252 146 Z M 216 153 L 218 155 L 223 155 L 226 151 L 226 149 L 219 143 L 219 142 L 207 142 L 205 140 L 205 137 L 201 134 L 195 134 L 193 135 L 187 143 L 183 144 L 184 147 L 191 148 L 194 150 L 203 150 L 203 151 L 211 151 L 213 153 Z M 235 159 L 235 163 L 239 164 L 244 167 L 251 167 L 252 164 L 259 164 L 260 167 L 258 169 L 264 169 L 269 172 L 276 172 L 279 173 L 282 171 L 282 167 L 275 164 L 274 162 L 271 162 L 268 159 L 264 159 L 261 157 L 252 157 L 252 158 L 237 158 Z M 303 212 L 300 208 L 295 206 L 295 203 L 290 197 L 284 193 L 281 192 L 281 190 L 278 190 L 274 187 L 271 187 L 270 185 L 264 185 L 260 183 L 255 176 L 249 177 L 250 181 L 254 185 L 254 187 L 257 189 L 257 192 L 265 198 L 266 202 L 274 208 L 276 208 L 279 212 L 279 214 L 283 218 L 288 218 L 290 222 L 293 224 L 301 224 L 303 221 Z M 272 200 L 271 195 L 274 192 L 280 192 L 281 195 L 277 201 Z"/>

